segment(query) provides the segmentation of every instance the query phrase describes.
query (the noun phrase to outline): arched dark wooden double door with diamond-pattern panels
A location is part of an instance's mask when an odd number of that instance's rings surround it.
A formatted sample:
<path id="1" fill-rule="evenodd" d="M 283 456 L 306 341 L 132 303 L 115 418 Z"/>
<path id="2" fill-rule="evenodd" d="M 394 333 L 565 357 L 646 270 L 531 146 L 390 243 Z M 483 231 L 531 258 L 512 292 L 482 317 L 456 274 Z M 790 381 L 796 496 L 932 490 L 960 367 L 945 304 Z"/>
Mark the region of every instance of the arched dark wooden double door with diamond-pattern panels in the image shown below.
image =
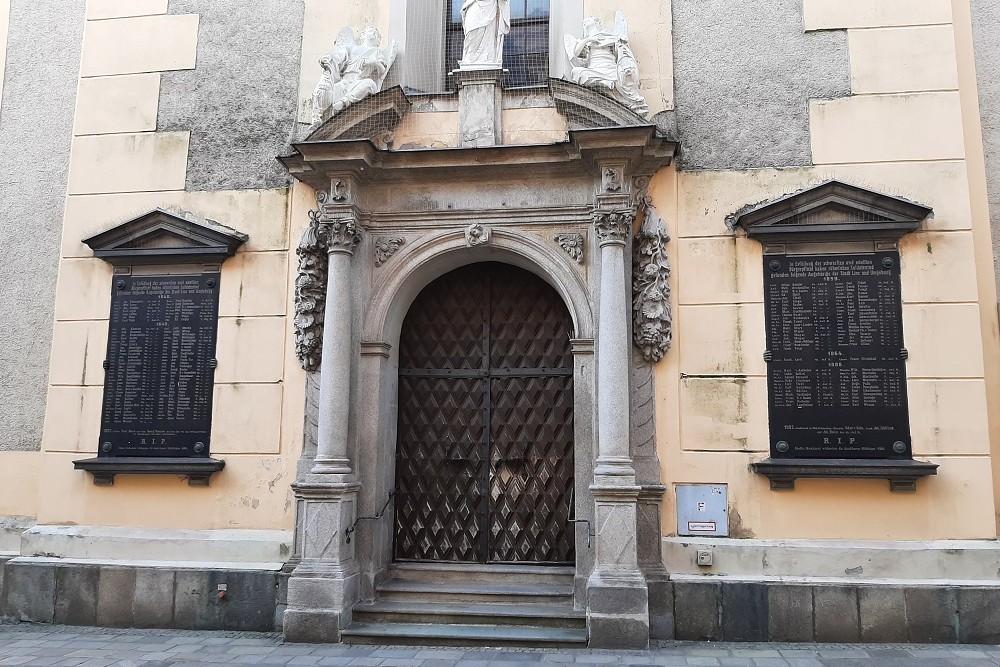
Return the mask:
<path id="1" fill-rule="evenodd" d="M 399 342 L 396 560 L 574 562 L 572 333 L 555 290 L 507 264 L 417 296 Z"/>

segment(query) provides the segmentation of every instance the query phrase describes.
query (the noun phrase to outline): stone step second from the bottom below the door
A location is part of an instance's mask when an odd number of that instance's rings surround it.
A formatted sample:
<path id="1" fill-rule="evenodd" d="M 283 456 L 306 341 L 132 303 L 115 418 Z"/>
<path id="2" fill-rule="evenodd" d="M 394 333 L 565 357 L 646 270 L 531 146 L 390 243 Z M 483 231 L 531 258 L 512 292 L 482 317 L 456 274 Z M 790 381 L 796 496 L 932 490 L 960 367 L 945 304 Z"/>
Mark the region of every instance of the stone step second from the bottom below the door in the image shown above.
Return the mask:
<path id="1" fill-rule="evenodd" d="M 569 605 L 459 604 L 379 600 L 354 606 L 360 623 L 519 625 L 586 630 L 587 614 Z"/>

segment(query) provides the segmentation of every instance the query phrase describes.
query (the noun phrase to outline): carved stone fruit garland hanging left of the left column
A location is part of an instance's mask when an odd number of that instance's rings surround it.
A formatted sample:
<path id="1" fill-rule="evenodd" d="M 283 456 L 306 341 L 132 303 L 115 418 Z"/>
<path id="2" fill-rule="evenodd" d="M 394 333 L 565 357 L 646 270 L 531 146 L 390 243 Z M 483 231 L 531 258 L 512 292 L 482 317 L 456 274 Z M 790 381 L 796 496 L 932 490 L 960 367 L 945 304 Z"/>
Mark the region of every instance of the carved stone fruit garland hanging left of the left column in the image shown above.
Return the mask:
<path id="1" fill-rule="evenodd" d="M 318 201 L 322 207 L 325 193 Z M 299 275 L 295 279 L 295 355 L 307 371 L 319 369 L 323 352 L 323 313 L 326 307 L 326 272 L 329 227 L 320 211 L 309 212 L 309 227 L 299 247 Z"/>

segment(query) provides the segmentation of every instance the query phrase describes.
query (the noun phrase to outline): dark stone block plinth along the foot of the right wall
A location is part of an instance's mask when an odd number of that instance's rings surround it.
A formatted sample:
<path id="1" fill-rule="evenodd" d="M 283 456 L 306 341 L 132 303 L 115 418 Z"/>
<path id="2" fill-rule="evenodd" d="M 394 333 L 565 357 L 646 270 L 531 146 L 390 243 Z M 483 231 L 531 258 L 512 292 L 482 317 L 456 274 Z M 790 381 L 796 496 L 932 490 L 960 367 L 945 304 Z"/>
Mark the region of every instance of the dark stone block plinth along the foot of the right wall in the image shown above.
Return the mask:
<path id="1" fill-rule="evenodd" d="M 652 591 L 651 591 L 652 593 Z M 654 604 L 679 640 L 1000 643 L 995 586 L 675 580 Z M 664 599 L 667 598 L 667 599 Z"/>

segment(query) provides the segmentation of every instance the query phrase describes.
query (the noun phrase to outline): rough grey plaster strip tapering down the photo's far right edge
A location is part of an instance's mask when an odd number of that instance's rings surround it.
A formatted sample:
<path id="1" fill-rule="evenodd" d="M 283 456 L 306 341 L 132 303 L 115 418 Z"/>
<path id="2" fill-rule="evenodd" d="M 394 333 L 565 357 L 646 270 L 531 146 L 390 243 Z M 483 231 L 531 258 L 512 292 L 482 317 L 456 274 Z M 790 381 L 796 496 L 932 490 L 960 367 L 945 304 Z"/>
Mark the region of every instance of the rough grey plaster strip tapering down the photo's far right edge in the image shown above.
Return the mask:
<path id="1" fill-rule="evenodd" d="M 986 152 L 986 187 L 993 224 L 993 259 L 1000 286 L 1000 0 L 973 0 L 972 32 L 976 43 L 979 78 L 979 113 L 983 119 L 983 149 Z"/>

